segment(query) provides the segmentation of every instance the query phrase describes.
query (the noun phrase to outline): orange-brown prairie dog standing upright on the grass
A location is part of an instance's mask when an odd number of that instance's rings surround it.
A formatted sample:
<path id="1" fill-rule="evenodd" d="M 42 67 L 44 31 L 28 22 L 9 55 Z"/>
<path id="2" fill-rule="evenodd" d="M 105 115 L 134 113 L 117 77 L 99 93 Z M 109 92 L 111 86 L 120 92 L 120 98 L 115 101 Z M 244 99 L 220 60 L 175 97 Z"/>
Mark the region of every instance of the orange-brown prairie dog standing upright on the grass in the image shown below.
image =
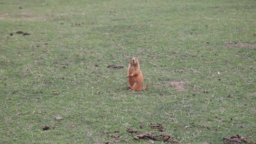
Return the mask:
<path id="1" fill-rule="evenodd" d="M 148 87 L 147 84 L 146 87 L 142 89 L 144 78 L 142 72 L 140 71 L 140 64 L 137 58 L 132 58 L 132 60 L 130 61 L 127 70 L 127 78 L 130 84 L 130 88 L 135 91 L 145 90 Z"/>

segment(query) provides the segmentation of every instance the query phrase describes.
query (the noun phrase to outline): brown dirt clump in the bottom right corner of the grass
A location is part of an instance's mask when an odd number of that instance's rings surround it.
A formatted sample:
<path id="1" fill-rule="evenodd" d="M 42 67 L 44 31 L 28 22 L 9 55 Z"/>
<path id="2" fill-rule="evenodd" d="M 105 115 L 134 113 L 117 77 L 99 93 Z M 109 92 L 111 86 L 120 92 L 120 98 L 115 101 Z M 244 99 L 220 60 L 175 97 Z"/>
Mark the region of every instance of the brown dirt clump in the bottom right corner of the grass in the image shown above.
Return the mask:
<path id="1" fill-rule="evenodd" d="M 251 144 L 251 141 L 248 137 L 243 138 L 240 134 L 232 135 L 231 137 L 224 136 L 223 140 L 224 144 Z"/>

